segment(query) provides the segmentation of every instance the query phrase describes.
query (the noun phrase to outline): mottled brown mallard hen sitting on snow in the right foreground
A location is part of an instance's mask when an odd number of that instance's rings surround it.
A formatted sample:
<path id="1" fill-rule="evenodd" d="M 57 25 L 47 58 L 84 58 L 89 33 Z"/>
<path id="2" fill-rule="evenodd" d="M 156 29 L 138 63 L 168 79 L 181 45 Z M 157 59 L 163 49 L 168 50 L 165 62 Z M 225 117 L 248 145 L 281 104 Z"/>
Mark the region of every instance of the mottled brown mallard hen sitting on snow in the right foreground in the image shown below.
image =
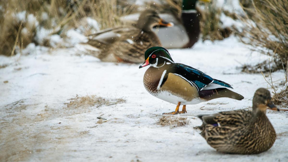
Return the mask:
<path id="1" fill-rule="evenodd" d="M 265 88 L 259 88 L 253 97 L 253 110 L 234 110 L 200 116 L 203 124 L 194 127 L 219 152 L 257 154 L 272 147 L 275 130 L 266 116 L 267 106 L 278 110 Z"/>

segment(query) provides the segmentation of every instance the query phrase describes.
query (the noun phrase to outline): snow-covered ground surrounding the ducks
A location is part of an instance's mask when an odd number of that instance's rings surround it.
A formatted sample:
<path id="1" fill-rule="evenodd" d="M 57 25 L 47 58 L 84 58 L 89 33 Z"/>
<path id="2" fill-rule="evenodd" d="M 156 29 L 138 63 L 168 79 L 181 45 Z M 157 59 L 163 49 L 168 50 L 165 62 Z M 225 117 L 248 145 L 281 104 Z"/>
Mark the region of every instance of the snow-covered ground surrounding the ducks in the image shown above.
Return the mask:
<path id="1" fill-rule="evenodd" d="M 277 139 L 258 155 L 216 152 L 193 129 L 201 124 L 198 114 L 251 110 L 255 90 L 267 87 L 262 74 L 242 73 L 236 67 L 268 57 L 251 52 L 235 37 L 169 50 L 174 61 L 228 82 L 245 97 L 188 105 L 187 114 L 177 116 L 187 117 L 190 124 L 173 129 L 155 124 L 162 116 L 153 114 L 171 112 L 176 106 L 145 90 L 146 67 L 104 63 L 75 50 L 38 52 L 20 59 L 0 56 L 0 65 L 8 65 L 0 68 L 0 161 L 288 161 L 288 112 L 267 111 Z M 283 71 L 272 73 L 273 80 L 282 78 Z M 67 108 L 64 103 L 76 95 L 124 97 L 127 102 Z M 96 124 L 99 116 L 107 122 Z"/>

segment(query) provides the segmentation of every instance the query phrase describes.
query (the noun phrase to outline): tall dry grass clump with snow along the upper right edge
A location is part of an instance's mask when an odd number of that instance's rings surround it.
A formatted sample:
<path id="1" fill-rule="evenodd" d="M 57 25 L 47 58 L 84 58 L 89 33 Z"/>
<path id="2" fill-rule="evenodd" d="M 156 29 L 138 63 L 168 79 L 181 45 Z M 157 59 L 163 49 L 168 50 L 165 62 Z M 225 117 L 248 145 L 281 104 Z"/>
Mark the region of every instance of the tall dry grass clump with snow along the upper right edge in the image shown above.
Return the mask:
<path id="1" fill-rule="evenodd" d="M 252 8 L 244 8 L 248 14 L 242 19 L 245 27 L 240 38 L 242 42 L 254 46 L 255 50 L 273 56 L 275 68 L 282 69 L 288 59 L 288 0 L 251 2 Z"/>

